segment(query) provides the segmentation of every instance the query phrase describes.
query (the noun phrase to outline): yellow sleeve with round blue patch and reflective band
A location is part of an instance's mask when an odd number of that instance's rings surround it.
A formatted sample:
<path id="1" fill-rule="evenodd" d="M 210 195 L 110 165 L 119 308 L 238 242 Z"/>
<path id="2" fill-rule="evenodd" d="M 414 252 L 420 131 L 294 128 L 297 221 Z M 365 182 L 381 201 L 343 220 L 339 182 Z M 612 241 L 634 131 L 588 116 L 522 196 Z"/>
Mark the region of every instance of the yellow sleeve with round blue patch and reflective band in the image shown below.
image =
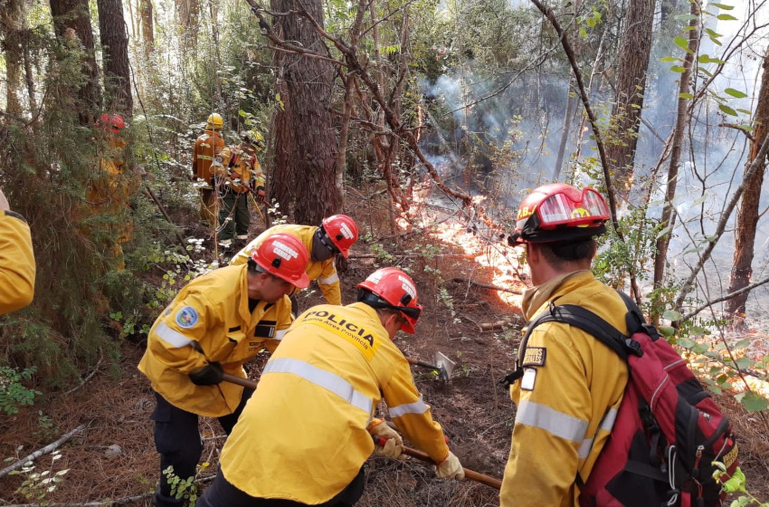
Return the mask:
<path id="1" fill-rule="evenodd" d="M 223 329 L 222 322 L 209 311 L 208 300 L 203 295 L 189 294 L 185 299 L 172 302 L 158 321 L 152 328 L 147 348 L 168 368 L 185 375 L 207 365 L 204 354 L 207 348 L 212 348 L 211 340 L 223 338 L 218 335 Z"/>

